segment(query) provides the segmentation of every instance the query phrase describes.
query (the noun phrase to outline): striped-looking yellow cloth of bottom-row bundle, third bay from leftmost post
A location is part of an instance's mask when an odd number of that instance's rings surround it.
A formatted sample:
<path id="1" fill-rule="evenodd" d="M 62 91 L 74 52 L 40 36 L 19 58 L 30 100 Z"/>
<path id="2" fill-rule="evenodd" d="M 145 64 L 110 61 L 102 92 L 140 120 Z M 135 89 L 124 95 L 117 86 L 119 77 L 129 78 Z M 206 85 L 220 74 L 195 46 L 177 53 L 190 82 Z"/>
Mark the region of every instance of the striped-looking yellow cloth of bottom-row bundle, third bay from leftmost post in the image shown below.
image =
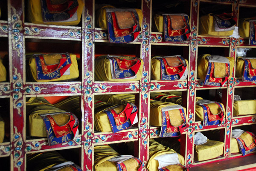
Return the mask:
<path id="1" fill-rule="evenodd" d="M 162 144 L 149 139 L 149 148 L 148 148 L 148 164 L 147 168 L 149 171 L 158 171 L 158 160 L 154 160 L 155 157 L 160 156 L 162 154 L 172 154 L 172 153 L 177 153 L 173 149 L 163 146 Z M 182 155 L 178 154 L 180 164 L 184 165 L 185 160 Z"/>

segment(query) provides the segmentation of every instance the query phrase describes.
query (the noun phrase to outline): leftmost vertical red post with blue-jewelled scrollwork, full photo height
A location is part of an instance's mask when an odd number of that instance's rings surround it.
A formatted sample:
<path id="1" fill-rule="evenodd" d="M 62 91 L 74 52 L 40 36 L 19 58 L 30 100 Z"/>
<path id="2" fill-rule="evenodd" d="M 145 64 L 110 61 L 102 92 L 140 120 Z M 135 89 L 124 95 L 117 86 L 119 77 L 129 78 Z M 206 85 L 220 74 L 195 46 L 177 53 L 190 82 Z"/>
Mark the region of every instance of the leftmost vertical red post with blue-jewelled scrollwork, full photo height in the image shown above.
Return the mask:
<path id="1" fill-rule="evenodd" d="M 8 41 L 10 66 L 11 170 L 25 170 L 26 101 L 23 98 L 23 1 L 8 0 Z"/>

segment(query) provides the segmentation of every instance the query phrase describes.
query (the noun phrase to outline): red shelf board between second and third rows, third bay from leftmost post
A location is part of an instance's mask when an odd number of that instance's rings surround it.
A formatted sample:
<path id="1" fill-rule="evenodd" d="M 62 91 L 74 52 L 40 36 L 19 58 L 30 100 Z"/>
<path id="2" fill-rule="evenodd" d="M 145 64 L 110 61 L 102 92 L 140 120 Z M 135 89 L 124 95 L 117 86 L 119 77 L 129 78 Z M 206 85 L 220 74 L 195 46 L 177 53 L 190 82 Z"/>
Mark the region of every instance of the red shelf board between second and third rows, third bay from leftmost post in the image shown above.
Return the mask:
<path id="1" fill-rule="evenodd" d="M 177 81 L 151 81 L 150 90 L 186 90 L 187 80 Z"/>

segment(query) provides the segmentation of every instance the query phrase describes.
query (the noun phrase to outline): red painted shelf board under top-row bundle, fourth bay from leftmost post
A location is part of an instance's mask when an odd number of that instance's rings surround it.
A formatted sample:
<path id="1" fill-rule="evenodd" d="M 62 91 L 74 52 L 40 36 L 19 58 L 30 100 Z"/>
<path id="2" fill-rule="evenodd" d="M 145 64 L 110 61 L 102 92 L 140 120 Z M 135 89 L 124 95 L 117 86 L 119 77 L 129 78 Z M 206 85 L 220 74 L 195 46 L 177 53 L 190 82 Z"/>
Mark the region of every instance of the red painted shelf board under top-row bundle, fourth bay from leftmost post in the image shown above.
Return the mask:
<path id="1" fill-rule="evenodd" d="M 205 37 L 198 35 L 196 39 L 198 46 L 218 46 L 228 48 L 230 46 L 230 37 Z"/>

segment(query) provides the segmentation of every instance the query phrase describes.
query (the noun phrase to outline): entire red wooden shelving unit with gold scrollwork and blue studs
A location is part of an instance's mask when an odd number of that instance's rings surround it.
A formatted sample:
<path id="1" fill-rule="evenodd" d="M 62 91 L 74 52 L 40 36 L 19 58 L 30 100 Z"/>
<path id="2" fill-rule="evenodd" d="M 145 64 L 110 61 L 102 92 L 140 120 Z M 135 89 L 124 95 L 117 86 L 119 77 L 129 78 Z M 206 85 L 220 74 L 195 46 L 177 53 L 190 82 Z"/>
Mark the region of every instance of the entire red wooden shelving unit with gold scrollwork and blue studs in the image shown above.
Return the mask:
<path id="1" fill-rule="evenodd" d="M 220 0 L 219 0 L 220 1 Z M 203 7 L 221 6 L 233 12 L 233 16 L 247 17 L 248 8 L 256 8 L 254 0 L 234 0 L 229 2 L 215 0 L 181 0 L 186 4 L 184 13 L 190 17 L 191 34 L 189 41 L 169 43 L 163 40 L 163 34 L 152 28 L 154 21 L 155 0 L 120 1 L 116 0 L 85 0 L 82 20 L 78 26 L 47 26 L 27 23 L 26 0 L 1 0 L 0 7 L 0 55 L 9 55 L 9 78 L 0 83 L 0 100 L 9 105 L 9 111 L 4 114 L 9 118 L 6 125 L 10 125 L 10 136 L 0 143 L 0 163 L 4 163 L 9 170 L 26 170 L 26 154 L 42 151 L 69 151 L 76 148 L 79 153 L 79 165 L 84 171 L 93 170 L 93 147 L 95 145 L 134 141 L 134 156 L 143 162 L 146 170 L 148 160 L 149 138 L 159 137 L 160 128 L 149 125 L 149 99 L 151 92 L 181 91 L 183 107 L 186 107 L 188 123 L 186 131 L 181 135 L 180 154 L 185 159 L 186 167 L 194 167 L 210 162 L 242 157 L 241 154 L 230 154 L 230 140 L 232 128 L 249 125 L 255 130 L 256 114 L 233 117 L 233 96 L 236 90 L 250 88 L 256 91 L 255 82 L 243 82 L 234 76 L 228 84 L 221 88 L 209 88 L 203 85 L 203 80 L 196 77 L 197 57 L 200 54 L 215 54 L 230 56 L 236 59 L 236 48 L 250 47 L 248 40 L 230 37 L 204 37 L 198 35 L 198 20 Z M 143 25 L 138 41 L 128 44 L 108 43 L 108 31 L 98 28 L 95 24 L 95 10 L 99 4 L 108 3 L 116 7 L 130 6 L 143 11 Z M 153 5 L 152 5 L 153 4 Z M 255 13 L 255 12 L 254 12 Z M 151 31 L 152 30 L 152 31 Z M 32 48 L 36 45 L 36 49 Z M 47 46 L 55 47 L 55 51 Z M 118 50 L 118 49 L 122 49 Z M 68 82 L 31 82 L 26 76 L 27 52 L 69 52 L 80 54 L 79 79 Z M 144 61 L 143 77 L 134 82 L 99 82 L 94 80 L 94 56 L 96 54 L 131 54 L 140 56 Z M 189 75 L 187 80 L 154 81 L 150 80 L 150 61 L 153 55 L 181 54 L 189 60 Z M 236 60 L 235 60 L 236 61 Z M 8 70 L 9 67 L 9 70 Z M 221 103 L 226 110 L 226 118 L 220 125 L 202 127 L 202 123 L 195 120 L 195 97 L 201 92 L 222 92 Z M 139 108 L 139 121 L 135 127 L 117 132 L 94 131 L 94 97 L 99 94 L 135 94 L 135 103 Z M 202 94 L 202 93 L 201 93 Z M 81 130 L 74 140 L 49 146 L 46 138 L 26 136 L 26 98 L 42 96 L 80 96 L 82 117 Z M 1 103 L 1 104 L 3 104 Z M 1 112 L 2 114 L 2 112 Z M 193 159 L 195 132 L 221 129 L 223 134 L 224 155 L 220 158 L 195 162 Z M 254 132 L 256 133 L 256 132 Z M 251 155 L 251 154 L 249 154 Z M 252 154 L 253 155 L 253 154 Z"/>

